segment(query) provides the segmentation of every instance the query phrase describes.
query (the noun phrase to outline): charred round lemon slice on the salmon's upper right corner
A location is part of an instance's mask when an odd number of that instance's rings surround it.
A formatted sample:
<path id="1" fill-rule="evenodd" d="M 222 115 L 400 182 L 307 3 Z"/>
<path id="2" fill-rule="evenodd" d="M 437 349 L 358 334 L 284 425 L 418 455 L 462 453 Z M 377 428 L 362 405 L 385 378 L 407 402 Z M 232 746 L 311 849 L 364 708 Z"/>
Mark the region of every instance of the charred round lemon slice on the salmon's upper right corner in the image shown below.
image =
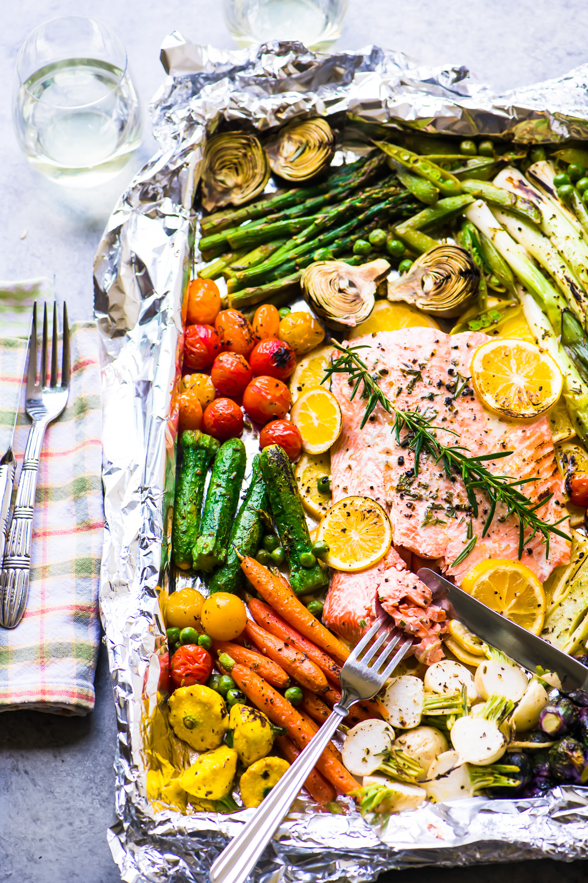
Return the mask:
<path id="1" fill-rule="evenodd" d="M 490 411 L 501 417 L 532 420 L 562 394 L 562 372 L 549 353 L 525 340 L 482 343 L 473 353 L 472 381 Z"/>

